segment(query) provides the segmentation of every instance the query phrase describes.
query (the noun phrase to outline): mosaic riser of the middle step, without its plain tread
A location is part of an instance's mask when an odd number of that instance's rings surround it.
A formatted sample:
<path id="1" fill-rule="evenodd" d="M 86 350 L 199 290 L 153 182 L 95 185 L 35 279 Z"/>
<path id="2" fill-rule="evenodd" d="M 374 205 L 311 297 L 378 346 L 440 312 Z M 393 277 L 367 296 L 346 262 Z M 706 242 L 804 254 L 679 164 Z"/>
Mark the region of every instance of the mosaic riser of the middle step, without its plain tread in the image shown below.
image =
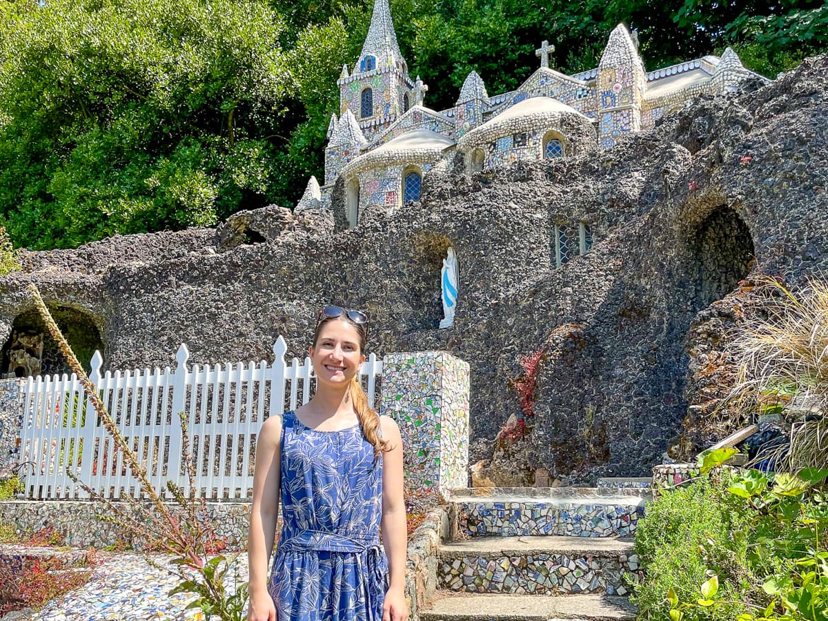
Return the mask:
<path id="1" fill-rule="evenodd" d="M 627 595 L 625 573 L 638 572 L 638 556 L 529 552 L 515 556 L 456 556 L 440 561 L 440 587 L 469 593 Z"/>

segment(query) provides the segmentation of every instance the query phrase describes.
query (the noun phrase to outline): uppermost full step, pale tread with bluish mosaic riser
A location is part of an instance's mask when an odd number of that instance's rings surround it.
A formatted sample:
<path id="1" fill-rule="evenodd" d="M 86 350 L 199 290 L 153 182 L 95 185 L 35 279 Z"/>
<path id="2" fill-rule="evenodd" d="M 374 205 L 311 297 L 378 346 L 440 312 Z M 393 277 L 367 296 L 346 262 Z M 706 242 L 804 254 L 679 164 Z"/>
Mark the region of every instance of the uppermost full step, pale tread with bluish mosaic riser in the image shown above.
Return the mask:
<path id="1" fill-rule="evenodd" d="M 484 489 L 492 493 L 479 495 Z M 479 488 L 450 494 L 460 532 L 504 537 L 626 537 L 635 532 L 649 498 L 643 489 L 595 488 Z"/>

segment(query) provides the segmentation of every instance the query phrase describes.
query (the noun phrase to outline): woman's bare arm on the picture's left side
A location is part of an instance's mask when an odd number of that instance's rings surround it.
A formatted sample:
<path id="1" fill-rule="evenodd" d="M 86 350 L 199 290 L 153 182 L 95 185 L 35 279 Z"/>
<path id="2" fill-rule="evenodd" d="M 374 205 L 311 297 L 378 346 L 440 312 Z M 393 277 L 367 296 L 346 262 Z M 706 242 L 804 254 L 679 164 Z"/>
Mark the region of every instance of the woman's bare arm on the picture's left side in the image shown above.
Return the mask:
<path id="1" fill-rule="evenodd" d="M 271 416 L 262 425 L 256 442 L 253 471 L 253 506 L 248 532 L 250 610 L 248 619 L 275 619 L 272 599 L 267 594 L 267 561 L 276 537 L 279 516 L 279 482 L 282 416 Z M 271 614 L 272 611 L 272 614 Z"/>

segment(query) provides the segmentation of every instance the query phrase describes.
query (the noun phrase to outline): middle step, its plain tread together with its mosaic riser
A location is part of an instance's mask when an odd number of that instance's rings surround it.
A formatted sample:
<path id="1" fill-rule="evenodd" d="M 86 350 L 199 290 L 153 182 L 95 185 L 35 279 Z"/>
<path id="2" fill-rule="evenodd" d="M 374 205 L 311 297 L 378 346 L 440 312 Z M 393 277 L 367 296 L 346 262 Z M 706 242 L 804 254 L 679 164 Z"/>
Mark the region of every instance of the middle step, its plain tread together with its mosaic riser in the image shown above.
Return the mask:
<path id="1" fill-rule="evenodd" d="M 521 595 L 627 595 L 623 574 L 638 572 L 631 539 L 474 537 L 440 546 L 441 589 Z"/>

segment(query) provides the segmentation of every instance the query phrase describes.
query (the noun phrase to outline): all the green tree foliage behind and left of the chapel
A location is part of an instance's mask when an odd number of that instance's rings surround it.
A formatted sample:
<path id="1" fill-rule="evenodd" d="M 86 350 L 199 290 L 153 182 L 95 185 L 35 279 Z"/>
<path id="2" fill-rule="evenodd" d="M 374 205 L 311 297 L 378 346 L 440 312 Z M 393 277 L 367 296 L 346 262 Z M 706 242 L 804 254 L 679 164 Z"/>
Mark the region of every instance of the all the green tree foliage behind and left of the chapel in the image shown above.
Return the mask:
<path id="1" fill-rule="evenodd" d="M 371 0 L 0 2 L 0 225 L 17 245 L 214 224 L 291 205 L 323 172 L 335 81 L 353 67 Z M 732 45 L 774 75 L 828 48 L 818 0 L 392 0 L 427 105 L 470 70 L 517 88 L 556 46 L 572 73 L 619 22 L 649 68 Z"/>

